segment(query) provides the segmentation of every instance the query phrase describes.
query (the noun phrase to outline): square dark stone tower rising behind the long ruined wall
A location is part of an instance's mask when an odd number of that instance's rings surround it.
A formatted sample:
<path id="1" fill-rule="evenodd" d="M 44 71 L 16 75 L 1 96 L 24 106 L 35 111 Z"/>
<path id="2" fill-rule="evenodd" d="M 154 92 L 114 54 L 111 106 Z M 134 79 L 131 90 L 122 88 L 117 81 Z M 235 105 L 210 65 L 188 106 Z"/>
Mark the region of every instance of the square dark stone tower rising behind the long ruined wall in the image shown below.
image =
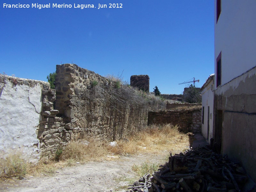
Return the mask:
<path id="1" fill-rule="evenodd" d="M 149 92 L 148 75 L 133 75 L 130 78 L 130 84 L 132 87 L 138 87 L 142 91 Z"/>

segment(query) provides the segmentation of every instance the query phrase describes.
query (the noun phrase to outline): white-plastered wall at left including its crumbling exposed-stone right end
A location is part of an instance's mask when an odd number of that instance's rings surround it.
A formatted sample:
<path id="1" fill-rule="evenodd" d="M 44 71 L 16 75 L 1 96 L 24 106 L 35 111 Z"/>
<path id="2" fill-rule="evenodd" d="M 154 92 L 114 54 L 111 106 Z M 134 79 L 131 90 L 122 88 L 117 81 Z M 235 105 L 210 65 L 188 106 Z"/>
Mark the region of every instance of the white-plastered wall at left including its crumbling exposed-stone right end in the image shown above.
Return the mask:
<path id="1" fill-rule="evenodd" d="M 36 163 L 65 147 L 71 135 L 56 116 L 55 99 L 47 82 L 0 75 L 0 151 L 20 152 Z"/>

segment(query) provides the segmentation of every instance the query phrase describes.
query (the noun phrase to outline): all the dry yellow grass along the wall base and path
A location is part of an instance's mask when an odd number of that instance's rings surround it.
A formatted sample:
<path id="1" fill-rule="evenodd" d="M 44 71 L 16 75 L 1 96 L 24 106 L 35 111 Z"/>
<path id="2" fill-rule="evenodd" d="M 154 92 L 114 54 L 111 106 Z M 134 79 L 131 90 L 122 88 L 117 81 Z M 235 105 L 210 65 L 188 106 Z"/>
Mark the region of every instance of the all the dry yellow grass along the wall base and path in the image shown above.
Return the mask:
<path id="1" fill-rule="evenodd" d="M 89 141 L 89 143 L 87 142 Z M 57 169 L 88 161 L 116 160 L 110 158 L 113 155 L 126 154 L 163 154 L 169 151 L 174 153 L 184 152 L 189 146 L 188 135 L 178 131 L 178 126 L 152 125 L 141 128 L 140 131 L 131 132 L 126 139 L 117 140 L 116 147 L 111 147 L 108 142 L 95 138 L 71 141 L 63 150 L 59 150 L 59 158 L 52 161 L 40 160 L 38 164 L 29 164 L 22 159 L 21 154 L 10 154 L 5 159 L 0 159 L 0 171 L 2 178 L 18 177 L 28 175 L 52 174 Z M 168 156 L 166 156 L 168 157 Z M 58 161 L 57 161 L 58 160 Z M 155 170 L 160 163 L 146 162 L 134 165 L 132 170 L 137 174 L 145 174 L 149 169 Z M 143 174 L 142 174 L 143 175 Z"/>

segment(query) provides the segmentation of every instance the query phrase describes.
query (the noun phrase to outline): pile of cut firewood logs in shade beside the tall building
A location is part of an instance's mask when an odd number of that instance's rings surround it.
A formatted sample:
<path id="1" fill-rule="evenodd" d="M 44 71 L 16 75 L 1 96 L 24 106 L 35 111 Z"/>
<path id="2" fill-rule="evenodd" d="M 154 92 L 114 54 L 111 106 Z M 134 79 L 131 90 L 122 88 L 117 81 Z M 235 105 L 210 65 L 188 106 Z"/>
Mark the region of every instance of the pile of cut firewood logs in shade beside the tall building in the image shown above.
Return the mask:
<path id="1" fill-rule="evenodd" d="M 169 157 L 160 169 L 143 175 L 127 192 L 238 192 L 244 190 L 248 176 L 244 169 L 227 156 L 206 147 Z M 254 183 L 255 184 L 255 183 Z"/>

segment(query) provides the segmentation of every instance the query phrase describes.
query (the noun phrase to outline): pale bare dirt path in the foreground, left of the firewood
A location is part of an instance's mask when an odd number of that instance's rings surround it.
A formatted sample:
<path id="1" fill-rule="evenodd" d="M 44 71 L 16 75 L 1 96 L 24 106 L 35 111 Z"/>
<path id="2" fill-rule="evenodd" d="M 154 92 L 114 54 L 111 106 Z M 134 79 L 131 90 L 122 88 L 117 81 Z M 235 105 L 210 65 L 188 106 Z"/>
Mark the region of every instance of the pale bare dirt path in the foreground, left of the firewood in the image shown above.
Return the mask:
<path id="1" fill-rule="evenodd" d="M 168 152 L 161 155 L 144 154 L 133 156 L 119 156 L 112 161 L 89 162 L 64 167 L 51 175 L 39 177 L 27 176 L 24 180 L 0 182 L 0 191 L 88 191 L 88 192 L 125 192 L 120 188 L 128 181 L 118 181 L 120 177 L 134 177 L 132 165 L 143 162 L 164 163 Z M 139 179 L 139 178 L 138 178 Z"/>

